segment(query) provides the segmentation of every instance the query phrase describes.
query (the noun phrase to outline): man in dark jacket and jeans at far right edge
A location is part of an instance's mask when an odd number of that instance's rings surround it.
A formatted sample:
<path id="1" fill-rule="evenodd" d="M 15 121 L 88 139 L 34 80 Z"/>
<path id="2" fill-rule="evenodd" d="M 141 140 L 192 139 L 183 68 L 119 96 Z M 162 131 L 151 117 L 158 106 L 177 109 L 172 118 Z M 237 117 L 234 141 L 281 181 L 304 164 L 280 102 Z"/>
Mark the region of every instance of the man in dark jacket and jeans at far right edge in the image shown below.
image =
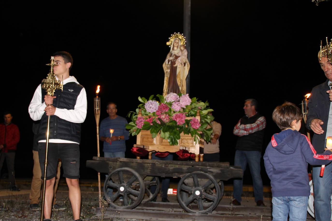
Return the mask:
<path id="1" fill-rule="evenodd" d="M 321 57 L 320 52 L 318 62 L 325 74 L 326 81 L 312 88 L 308 102 L 306 127 L 314 132 L 312 144 L 319 154 L 324 152 L 326 138 L 332 136 L 332 90 L 329 86 L 332 83 L 332 64 L 326 57 Z M 312 168 L 315 219 L 316 221 L 326 221 L 331 219 L 332 163 L 325 166 L 323 177 L 319 177 L 320 169 L 321 166 Z"/>

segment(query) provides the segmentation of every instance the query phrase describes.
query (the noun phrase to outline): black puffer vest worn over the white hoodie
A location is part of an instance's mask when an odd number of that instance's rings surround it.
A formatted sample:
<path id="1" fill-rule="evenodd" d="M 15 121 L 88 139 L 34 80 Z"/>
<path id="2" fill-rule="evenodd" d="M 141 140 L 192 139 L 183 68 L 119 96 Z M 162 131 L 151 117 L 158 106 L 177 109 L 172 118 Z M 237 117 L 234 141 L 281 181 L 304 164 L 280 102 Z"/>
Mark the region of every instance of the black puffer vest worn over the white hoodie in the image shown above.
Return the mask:
<path id="1" fill-rule="evenodd" d="M 75 82 L 68 82 L 63 85 L 63 92 L 57 89 L 54 92 L 53 106 L 60 109 L 73 110 L 76 104 L 77 96 L 80 94 L 83 86 Z M 44 102 L 46 90 L 41 89 L 41 102 Z M 47 132 L 46 112 L 41 117 L 41 122 L 38 129 L 37 140 L 45 140 Z M 55 115 L 50 116 L 49 123 L 49 139 L 63 139 L 70 140 L 77 143 L 81 141 L 81 124 L 72 123 L 63 120 Z"/>

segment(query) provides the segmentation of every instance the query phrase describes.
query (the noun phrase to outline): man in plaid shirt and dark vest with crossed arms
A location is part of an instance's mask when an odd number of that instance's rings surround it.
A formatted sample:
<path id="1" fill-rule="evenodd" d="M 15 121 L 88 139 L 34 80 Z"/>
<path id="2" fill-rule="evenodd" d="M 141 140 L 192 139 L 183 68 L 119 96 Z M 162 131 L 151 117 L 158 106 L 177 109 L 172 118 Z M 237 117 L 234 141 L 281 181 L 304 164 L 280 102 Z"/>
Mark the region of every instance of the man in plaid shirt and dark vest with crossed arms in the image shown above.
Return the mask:
<path id="1" fill-rule="evenodd" d="M 257 101 L 255 99 L 247 99 L 244 103 L 244 113 L 239 122 L 235 125 L 233 134 L 238 136 L 235 152 L 235 166 L 241 166 L 243 172 L 249 164 L 254 195 L 257 206 L 265 206 L 263 202 L 263 182 L 261 178 L 261 157 L 264 129 L 266 127 L 265 117 L 259 114 L 257 109 Z M 234 180 L 233 197 L 231 202 L 233 205 L 241 205 L 243 179 Z"/>

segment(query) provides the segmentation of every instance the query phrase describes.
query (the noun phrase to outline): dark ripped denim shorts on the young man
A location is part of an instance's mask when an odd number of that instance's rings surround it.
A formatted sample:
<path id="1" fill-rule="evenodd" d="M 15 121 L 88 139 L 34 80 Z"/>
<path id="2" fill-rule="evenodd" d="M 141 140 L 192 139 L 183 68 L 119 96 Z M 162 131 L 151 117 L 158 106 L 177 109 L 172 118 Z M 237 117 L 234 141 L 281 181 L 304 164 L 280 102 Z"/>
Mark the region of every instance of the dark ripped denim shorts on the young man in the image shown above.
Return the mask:
<path id="1" fill-rule="evenodd" d="M 41 165 L 41 179 L 44 177 L 46 143 L 38 143 L 38 155 Z M 80 148 L 77 143 L 48 143 L 46 180 L 56 176 L 58 159 L 61 159 L 63 177 L 80 178 Z"/>

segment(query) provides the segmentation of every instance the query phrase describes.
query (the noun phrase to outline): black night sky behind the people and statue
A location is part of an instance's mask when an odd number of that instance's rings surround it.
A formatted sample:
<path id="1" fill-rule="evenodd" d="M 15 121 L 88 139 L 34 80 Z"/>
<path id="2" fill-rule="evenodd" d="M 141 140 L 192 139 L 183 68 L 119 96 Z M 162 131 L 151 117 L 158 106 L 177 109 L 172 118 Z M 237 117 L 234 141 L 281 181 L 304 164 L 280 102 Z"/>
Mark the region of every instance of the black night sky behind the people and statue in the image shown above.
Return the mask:
<path id="1" fill-rule="evenodd" d="M 300 104 L 304 94 L 325 81 L 317 52 L 320 40 L 332 37 L 331 7 L 332 1 L 316 6 L 311 0 L 192 0 L 189 95 L 208 100 L 215 110 L 215 120 L 222 125 L 221 161 L 234 163 L 232 131 L 244 115 L 245 99 L 257 99 L 266 116 L 267 144 L 280 131 L 271 119 L 273 109 L 284 101 Z M 80 144 L 81 178 L 97 179 L 94 170 L 85 168 L 85 161 L 97 155 L 96 86 L 101 85 L 105 107 L 101 119 L 108 116 L 108 101 L 118 103 L 118 115 L 126 116 L 139 104 L 138 96 L 161 94 L 162 63 L 169 52 L 166 42 L 171 33 L 183 33 L 183 2 L 18 5 L 3 1 L 1 16 L 0 111 L 12 111 L 21 132 L 16 177 L 32 177 L 28 105 L 47 76 L 50 55 L 65 50 L 74 58 L 70 75 L 85 87 L 88 99 Z M 134 157 L 133 143 L 131 137 L 127 157 Z M 269 185 L 264 168 L 262 174 Z M 250 184 L 250 178 L 244 183 Z"/>

